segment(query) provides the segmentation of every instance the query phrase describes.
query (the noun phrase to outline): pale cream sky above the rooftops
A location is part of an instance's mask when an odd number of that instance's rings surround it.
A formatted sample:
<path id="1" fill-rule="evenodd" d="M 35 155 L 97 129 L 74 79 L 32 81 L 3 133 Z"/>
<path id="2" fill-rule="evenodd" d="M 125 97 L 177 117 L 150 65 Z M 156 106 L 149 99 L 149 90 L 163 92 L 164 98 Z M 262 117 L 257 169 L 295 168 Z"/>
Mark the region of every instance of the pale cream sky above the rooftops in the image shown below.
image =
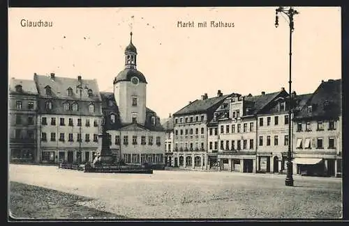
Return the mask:
<path id="1" fill-rule="evenodd" d="M 168 117 L 207 93 L 288 91 L 289 27 L 274 26 L 276 7 L 248 8 L 9 8 L 8 77 L 34 73 L 97 79 L 112 92 L 124 69 L 124 49 L 138 50 L 147 79 L 147 106 Z M 314 92 L 341 79 L 341 8 L 296 7 L 292 33 L 292 90 Z M 21 20 L 52 22 L 26 27 Z M 198 22 L 207 21 L 206 28 Z M 210 22 L 234 23 L 211 27 Z M 178 27 L 194 22 L 195 27 Z"/>

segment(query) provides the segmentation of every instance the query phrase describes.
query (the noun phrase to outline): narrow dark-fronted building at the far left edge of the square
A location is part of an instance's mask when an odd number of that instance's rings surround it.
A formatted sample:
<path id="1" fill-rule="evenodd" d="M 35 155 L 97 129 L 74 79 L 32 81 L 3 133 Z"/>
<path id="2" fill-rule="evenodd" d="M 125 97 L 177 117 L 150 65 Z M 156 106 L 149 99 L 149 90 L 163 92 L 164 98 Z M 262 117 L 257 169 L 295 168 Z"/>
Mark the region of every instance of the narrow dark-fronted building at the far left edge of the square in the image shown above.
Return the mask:
<path id="1" fill-rule="evenodd" d="M 34 81 L 10 79 L 9 97 L 10 161 L 35 161 L 38 91 Z"/>

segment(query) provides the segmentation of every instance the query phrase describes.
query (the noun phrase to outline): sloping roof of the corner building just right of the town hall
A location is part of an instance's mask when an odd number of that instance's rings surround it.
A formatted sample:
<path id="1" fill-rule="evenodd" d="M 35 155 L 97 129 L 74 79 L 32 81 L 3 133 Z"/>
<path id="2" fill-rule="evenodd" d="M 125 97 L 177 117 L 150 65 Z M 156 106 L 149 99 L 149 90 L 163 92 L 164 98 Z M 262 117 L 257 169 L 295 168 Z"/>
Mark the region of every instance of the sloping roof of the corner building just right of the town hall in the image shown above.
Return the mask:
<path id="1" fill-rule="evenodd" d="M 181 108 L 179 111 L 173 115 L 185 115 L 189 113 L 201 113 L 207 111 L 209 108 L 223 101 L 226 97 L 230 95 L 222 95 L 221 97 L 211 97 L 207 99 L 196 99 L 194 102 L 191 102 L 184 108 Z"/>

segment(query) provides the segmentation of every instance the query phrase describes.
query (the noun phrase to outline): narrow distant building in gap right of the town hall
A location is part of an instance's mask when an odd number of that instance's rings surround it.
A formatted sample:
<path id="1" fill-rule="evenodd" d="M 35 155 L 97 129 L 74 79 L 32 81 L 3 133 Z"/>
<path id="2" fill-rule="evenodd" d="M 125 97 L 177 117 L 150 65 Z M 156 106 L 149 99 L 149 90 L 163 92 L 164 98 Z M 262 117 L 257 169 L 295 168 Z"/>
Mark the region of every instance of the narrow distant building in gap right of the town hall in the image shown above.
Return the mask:
<path id="1" fill-rule="evenodd" d="M 173 157 L 173 117 L 170 114 L 163 122 L 163 129 L 165 129 L 165 166 L 172 166 Z"/>

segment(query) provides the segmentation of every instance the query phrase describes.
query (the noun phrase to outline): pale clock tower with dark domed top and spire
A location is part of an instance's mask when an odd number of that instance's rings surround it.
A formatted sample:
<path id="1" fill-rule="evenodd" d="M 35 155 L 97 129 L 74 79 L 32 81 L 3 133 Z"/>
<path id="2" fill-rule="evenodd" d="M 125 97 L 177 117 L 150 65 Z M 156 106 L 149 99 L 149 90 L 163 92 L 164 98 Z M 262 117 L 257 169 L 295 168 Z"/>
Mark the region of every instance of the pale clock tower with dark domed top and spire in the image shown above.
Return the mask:
<path id="1" fill-rule="evenodd" d="M 137 49 L 132 43 L 125 49 L 125 68 L 114 79 L 114 97 L 121 123 L 145 124 L 147 80 L 137 70 Z"/>

